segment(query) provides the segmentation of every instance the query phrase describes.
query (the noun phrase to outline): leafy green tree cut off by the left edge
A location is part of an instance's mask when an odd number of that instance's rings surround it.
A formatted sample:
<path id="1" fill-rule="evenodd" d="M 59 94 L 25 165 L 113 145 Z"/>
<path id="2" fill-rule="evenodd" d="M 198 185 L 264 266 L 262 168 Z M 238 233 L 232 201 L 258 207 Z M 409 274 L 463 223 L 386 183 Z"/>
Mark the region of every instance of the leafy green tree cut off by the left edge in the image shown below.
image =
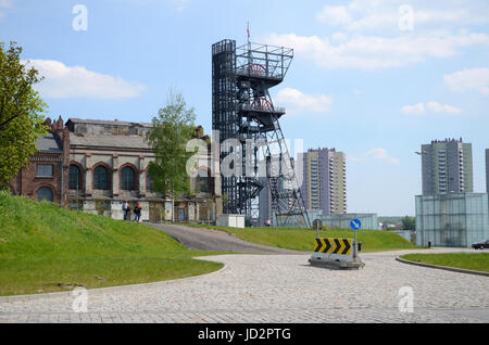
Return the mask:
<path id="1" fill-rule="evenodd" d="M 40 80 L 35 68 L 21 62 L 15 42 L 0 42 L 0 188 L 5 188 L 37 152 L 37 140 L 47 133 L 47 107 L 33 86 Z"/>

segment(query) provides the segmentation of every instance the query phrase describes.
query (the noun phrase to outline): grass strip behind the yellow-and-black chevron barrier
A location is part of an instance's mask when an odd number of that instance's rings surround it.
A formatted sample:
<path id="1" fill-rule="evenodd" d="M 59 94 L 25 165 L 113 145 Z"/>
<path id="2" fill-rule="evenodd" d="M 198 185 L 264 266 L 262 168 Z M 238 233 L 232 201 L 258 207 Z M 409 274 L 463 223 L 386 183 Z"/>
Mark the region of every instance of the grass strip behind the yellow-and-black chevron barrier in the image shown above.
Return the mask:
<path id="1" fill-rule="evenodd" d="M 316 231 L 308 229 L 235 229 L 190 223 L 186 223 L 186 226 L 224 230 L 248 242 L 302 252 L 313 251 L 316 238 Z M 319 231 L 319 234 L 322 238 L 354 238 L 353 230 L 348 229 L 330 229 L 326 231 Z M 379 230 L 360 230 L 356 234 L 356 238 L 358 242 L 362 243 L 362 253 L 416 248 L 414 244 L 393 232 Z"/>

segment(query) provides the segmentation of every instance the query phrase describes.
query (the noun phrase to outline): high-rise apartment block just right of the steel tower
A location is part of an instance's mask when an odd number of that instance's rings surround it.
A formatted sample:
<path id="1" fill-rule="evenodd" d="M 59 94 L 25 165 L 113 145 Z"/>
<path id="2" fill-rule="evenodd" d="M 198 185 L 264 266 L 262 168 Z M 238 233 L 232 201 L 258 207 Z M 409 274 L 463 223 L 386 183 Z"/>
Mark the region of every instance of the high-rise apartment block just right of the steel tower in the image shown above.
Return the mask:
<path id="1" fill-rule="evenodd" d="M 301 192 L 308 209 L 322 209 L 323 214 L 347 213 L 347 162 L 335 149 L 309 150 L 301 153 Z"/>

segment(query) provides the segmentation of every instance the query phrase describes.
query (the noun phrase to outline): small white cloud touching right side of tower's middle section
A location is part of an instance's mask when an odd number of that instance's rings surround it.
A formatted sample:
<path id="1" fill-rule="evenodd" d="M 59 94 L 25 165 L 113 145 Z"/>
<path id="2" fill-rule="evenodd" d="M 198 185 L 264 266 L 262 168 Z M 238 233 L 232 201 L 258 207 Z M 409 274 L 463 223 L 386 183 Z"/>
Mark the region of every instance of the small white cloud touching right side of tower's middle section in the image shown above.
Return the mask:
<path id="1" fill-rule="evenodd" d="M 279 106 L 287 107 L 288 114 L 327 113 L 333 104 L 333 97 L 326 94 L 304 94 L 297 89 L 286 88 L 274 98 Z"/>

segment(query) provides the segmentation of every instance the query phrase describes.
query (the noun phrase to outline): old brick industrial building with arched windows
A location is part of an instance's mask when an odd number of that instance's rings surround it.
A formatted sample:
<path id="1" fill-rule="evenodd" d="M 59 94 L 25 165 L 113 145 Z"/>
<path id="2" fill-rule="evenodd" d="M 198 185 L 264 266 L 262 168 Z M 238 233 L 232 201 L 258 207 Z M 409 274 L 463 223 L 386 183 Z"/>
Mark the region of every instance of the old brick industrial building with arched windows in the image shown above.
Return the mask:
<path id="1" fill-rule="evenodd" d="M 39 152 L 10 183 L 13 194 L 114 219 L 123 219 L 126 200 L 133 207 L 140 203 L 141 220 L 153 222 L 211 222 L 221 212 L 220 179 L 211 176 L 210 154 L 197 159 L 192 195 L 172 200 L 153 189 L 149 124 L 76 118 L 63 124 L 60 117 L 47 125 L 51 130 L 38 141 Z"/>

